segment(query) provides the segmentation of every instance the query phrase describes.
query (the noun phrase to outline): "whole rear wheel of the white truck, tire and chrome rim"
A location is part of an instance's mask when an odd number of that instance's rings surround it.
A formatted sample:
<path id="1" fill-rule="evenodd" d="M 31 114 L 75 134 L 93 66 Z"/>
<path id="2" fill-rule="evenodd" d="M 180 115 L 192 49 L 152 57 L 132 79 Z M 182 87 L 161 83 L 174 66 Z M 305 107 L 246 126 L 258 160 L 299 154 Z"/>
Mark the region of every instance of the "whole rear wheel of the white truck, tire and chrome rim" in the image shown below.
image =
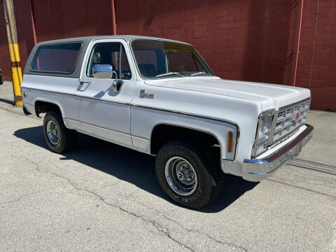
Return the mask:
<path id="1" fill-rule="evenodd" d="M 77 140 L 75 130 L 66 129 L 62 118 L 54 111 L 49 111 L 43 120 L 45 141 L 55 153 L 71 151 Z"/>

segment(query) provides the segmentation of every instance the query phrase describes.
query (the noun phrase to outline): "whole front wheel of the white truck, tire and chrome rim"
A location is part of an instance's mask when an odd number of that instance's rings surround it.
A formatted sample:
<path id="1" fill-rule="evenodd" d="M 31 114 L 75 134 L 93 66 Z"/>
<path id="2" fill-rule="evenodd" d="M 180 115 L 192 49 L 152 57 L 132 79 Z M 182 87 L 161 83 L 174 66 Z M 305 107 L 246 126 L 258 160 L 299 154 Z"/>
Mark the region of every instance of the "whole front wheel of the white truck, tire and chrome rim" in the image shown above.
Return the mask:
<path id="1" fill-rule="evenodd" d="M 155 170 L 162 190 L 175 202 L 192 209 L 205 207 L 221 190 L 205 155 L 186 142 L 171 141 L 162 146 Z"/>

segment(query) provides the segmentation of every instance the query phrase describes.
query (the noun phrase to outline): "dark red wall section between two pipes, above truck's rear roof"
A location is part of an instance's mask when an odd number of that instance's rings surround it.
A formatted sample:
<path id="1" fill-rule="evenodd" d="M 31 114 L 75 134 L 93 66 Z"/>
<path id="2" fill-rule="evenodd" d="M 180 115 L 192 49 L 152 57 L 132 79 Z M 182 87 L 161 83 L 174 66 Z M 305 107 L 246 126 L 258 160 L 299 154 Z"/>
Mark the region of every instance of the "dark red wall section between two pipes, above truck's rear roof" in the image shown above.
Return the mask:
<path id="1" fill-rule="evenodd" d="M 111 0 L 34 0 L 37 41 L 113 34 Z"/>

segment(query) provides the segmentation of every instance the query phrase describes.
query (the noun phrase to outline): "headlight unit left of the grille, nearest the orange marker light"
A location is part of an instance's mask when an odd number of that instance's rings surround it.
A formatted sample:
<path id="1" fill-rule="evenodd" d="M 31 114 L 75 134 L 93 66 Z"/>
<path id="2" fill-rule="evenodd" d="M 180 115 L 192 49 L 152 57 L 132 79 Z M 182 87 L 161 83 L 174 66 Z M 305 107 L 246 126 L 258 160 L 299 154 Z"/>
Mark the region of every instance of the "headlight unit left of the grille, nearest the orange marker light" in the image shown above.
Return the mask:
<path id="1" fill-rule="evenodd" d="M 255 135 L 255 142 L 252 149 L 252 156 L 254 158 L 267 150 L 269 132 L 272 127 L 273 118 L 274 111 L 266 111 L 259 116 L 258 129 Z"/>

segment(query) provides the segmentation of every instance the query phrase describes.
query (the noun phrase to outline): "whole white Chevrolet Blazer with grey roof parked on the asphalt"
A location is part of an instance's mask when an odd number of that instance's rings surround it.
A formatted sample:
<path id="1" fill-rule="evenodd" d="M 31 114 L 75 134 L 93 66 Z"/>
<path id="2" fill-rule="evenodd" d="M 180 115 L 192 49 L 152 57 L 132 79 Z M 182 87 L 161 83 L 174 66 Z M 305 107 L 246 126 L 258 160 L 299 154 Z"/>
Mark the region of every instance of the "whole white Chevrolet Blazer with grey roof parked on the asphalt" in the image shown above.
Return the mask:
<path id="1" fill-rule="evenodd" d="M 56 153 L 82 132 L 156 156 L 162 190 L 193 209 L 225 174 L 260 181 L 312 136 L 310 91 L 223 80 L 188 43 L 143 36 L 45 41 L 25 66 L 25 113 L 43 121 Z"/>

